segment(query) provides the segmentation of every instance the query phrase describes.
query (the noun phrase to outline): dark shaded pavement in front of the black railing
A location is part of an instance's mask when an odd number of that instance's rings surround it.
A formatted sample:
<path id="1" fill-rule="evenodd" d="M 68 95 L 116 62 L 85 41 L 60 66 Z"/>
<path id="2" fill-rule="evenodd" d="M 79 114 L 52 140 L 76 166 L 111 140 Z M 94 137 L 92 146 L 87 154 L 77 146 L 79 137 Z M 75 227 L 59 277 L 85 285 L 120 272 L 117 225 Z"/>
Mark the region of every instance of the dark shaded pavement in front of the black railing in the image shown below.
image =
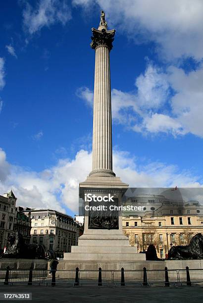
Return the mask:
<path id="1" fill-rule="evenodd" d="M 199 303 L 203 302 L 203 286 L 27 286 L 0 285 L 0 293 L 32 293 L 34 302 L 131 302 L 131 303 Z M 10 301 L 10 300 L 9 300 Z M 0 301 L 5 302 L 5 301 Z M 18 302 L 25 302 L 18 300 Z M 29 301 L 28 301 L 29 302 Z"/>

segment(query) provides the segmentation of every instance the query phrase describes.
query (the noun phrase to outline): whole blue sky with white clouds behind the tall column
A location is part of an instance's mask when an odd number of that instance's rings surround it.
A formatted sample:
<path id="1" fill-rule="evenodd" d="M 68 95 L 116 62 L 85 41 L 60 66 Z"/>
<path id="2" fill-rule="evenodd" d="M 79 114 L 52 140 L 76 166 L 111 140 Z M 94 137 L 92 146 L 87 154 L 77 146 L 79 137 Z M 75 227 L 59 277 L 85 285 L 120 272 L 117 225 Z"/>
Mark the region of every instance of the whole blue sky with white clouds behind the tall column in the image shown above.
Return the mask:
<path id="1" fill-rule="evenodd" d="M 139 187 L 203 186 L 203 2 L 0 2 L 0 194 L 77 212 L 91 170 L 95 53 L 104 9 L 113 167 Z"/>

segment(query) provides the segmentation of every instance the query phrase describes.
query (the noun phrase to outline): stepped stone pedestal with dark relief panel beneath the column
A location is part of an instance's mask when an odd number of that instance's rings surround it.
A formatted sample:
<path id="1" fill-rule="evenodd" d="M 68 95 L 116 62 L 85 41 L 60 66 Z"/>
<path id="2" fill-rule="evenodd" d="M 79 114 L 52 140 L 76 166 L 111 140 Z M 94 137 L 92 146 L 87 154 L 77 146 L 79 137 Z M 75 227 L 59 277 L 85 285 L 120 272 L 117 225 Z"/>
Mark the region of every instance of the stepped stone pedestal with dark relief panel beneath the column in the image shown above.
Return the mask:
<path id="1" fill-rule="evenodd" d="M 122 195 L 128 185 L 118 177 L 106 177 L 105 174 L 108 173 L 103 170 L 97 174 L 90 173 L 87 180 L 80 183 L 80 197 L 84 199 L 85 193 L 98 196 L 109 194 L 120 206 Z M 106 207 L 108 207 L 108 203 L 110 202 L 107 202 Z M 90 206 L 88 201 L 85 202 L 85 205 Z M 103 215 L 105 216 L 105 213 Z M 95 216 L 97 217 L 97 214 Z M 105 263 L 103 266 L 106 269 L 120 269 L 122 262 L 131 264 L 131 262 L 146 260 L 146 254 L 136 253 L 135 247 L 130 246 L 128 237 L 123 235 L 121 211 L 117 212 L 114 228 L 108 229 L 105 223 L 103 223 L 103 227 L 97 228 L 96 224 L 92 225 L 90 218 L 92 218 L 91 214 L 85 212 L 84 234 L 78 239 L 78 246 L 71 247 L 71 253 L 64 253 L 64 260 L 72 261 L 74 264 L 78 264 L 78 267 L 83 264 L 83 268 L 87 266 L 92 269 L 98 269 L 101 262 Z"/>

